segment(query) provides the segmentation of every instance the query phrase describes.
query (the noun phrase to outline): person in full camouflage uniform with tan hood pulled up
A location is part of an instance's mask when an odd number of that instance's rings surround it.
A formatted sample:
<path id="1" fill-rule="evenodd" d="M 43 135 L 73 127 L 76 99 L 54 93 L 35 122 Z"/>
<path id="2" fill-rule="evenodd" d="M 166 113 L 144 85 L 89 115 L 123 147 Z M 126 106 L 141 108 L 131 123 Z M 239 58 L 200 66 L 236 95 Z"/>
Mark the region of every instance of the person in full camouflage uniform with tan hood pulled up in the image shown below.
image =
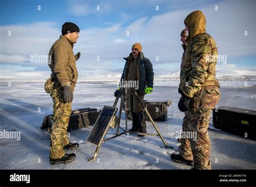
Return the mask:
<path id="1" fill-rule="evenodd" d="M 211 143 L 207 132 L 210 113 L 220 99 L 220 85 L 215 78 L 218 51 L 214 39 L 205 32 L 206 19 L 197 10 L 184 20 L 188 31 L 185 56 L 181 64 L 181 93 L 189 99 L 183 120 L 183 131 L 194 132 L 196 139 L 181 139 L 180 154 L 171 159 L 186 164 L 194 163 L 194 169 L 211 169 Z"/>

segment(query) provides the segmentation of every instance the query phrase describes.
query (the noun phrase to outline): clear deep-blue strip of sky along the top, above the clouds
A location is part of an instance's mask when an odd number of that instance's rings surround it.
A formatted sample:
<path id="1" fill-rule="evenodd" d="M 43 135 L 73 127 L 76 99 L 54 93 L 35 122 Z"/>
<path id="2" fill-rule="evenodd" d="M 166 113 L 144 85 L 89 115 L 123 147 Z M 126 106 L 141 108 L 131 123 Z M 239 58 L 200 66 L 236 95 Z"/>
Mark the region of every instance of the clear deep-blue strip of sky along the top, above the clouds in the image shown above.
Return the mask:
<path id="1" fill-rule="evenodd" d="M 184 2 L 184 3 L 183 3 Z M 172 10 L 202 6 L 219 1 L 150 1 L 150 0 L 1 0 L 1 25 L 28 24 L 40 21 L 55 21 L 60 26 L 66 20 L 81 28 L 105 27 L 122 21 L 127 26 L 140 17 L 152 17 Z M 38 5 L 41 10 L 38 11 Z M 100 11 L 97 11 L 97 5 Z M 159 11 L 155 11 L 155 6 Z"/>

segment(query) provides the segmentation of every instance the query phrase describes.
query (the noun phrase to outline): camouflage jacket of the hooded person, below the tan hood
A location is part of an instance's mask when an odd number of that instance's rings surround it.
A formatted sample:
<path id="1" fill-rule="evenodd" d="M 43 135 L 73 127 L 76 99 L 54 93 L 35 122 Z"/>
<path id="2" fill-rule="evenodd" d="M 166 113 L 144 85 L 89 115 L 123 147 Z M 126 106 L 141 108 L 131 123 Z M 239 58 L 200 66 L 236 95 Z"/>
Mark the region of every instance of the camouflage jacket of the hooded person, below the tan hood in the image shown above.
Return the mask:
<path id="1" fill-rule="evenodd" d="M 193 97 L 204 85 L 218 85 L 215 66 L 218 50 L 207 33 L 199 34 L 188 43 L 180 70 L 180 90 Z"/>

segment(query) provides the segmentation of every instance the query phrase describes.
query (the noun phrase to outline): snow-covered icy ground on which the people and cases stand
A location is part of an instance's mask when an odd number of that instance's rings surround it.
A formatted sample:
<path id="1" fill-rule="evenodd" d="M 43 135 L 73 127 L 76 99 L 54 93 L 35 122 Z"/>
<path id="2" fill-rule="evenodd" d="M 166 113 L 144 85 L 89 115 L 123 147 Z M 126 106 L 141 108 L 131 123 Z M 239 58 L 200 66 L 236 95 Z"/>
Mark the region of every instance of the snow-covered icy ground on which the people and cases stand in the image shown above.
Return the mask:
<path id="1" fill-rule="evenodd" d="M 218 106 L 240 107 L 256 110 L 255 81 L 220 81 L 221 100 Z M 112 105 L 115 82 L 83 82 L 80 81 L 75 89 L 72 110 L 85 107 L 102 108 Z M 153 93 L 145 99 L 150 101 L 172 100 L 173 113 L 168 121 L 157 122 L 169 146 L 165 149 L 159 137 L 137 135 L 116 139 L 103 143 L 98 160 L 87 161 L 95 152 L 96 146 L 86 142 L 91 128 L 82 128 L 70 132 L 70 141 L 78 142 L 75 150 L 77 158 L 69 164 L 49 164 L 49 133 L 41 130 L 44 116 L 52 113 L 52 99 L 44 91 L 44 82 L 22 80 L 1 80 L 1 126 L 0 131 L 21 132 L 21 139 L 0 139 L 0 169 L 190 169 L 184 164 L 170 160 L 172 153 L 178 152 L 176 132 L 181 130 L 184 113 L 177 107 L 179 100 L 178 81 L 156 81 Z M 118 104 L 119 106 L 119 104 Z M 172 106 L 169 107 L 169 113 Z M 124 126 L 124 112 L 121 120 Z M 212 124 L 211 124 L 212 125 Z M 129 127 L 131 121 L 129 121 Z M 211 128 L 214 128 L 211 126 Z M 147 131 L 155 133 L 150 121 L 147 121 Z M 255 169 L 256 141 L 237 135 L 208 130 L 212 149 L 211 162 L 213 169 Z M 107 137 L 114 135 L 114 130 L 107 133 Z"/>

